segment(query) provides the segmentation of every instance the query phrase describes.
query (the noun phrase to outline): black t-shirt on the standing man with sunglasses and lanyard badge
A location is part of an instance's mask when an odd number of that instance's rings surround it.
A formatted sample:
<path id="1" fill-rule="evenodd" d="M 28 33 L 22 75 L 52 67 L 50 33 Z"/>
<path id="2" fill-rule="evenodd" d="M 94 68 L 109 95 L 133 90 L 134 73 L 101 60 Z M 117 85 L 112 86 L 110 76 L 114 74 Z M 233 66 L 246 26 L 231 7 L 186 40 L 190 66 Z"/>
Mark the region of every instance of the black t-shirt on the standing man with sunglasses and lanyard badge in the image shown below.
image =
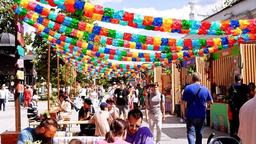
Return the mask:
<path id="1" fill-rule="evenodd" d="M 116 105 L 128 105 L 128 98 L 127 96 L 130 94 L 130 91 L 127 88 L 120 90 L 119 88 L 115 90 L 114 94 L 117 95 L 116 97 Z M 121 97 L 120 97 L 121 96 Z"/>

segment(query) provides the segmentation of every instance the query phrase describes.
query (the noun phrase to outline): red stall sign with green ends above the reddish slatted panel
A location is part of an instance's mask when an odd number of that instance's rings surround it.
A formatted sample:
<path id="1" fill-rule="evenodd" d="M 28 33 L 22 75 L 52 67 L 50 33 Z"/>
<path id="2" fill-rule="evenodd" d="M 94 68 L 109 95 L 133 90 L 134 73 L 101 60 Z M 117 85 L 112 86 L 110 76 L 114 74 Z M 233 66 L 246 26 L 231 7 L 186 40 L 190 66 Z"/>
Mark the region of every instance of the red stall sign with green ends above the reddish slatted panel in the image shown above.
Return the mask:
<path id="1" fill-rule="evenodd" d="M 221 58 L 238 55 L 238 53 L 239 53 L 239 49 L 238 49 L 238 46 L 236 46 L 228 49 L 223 49 L 218 52 L 214 52 L 212 53 L 212 58 L 213 60 L 219 60 Z"/>

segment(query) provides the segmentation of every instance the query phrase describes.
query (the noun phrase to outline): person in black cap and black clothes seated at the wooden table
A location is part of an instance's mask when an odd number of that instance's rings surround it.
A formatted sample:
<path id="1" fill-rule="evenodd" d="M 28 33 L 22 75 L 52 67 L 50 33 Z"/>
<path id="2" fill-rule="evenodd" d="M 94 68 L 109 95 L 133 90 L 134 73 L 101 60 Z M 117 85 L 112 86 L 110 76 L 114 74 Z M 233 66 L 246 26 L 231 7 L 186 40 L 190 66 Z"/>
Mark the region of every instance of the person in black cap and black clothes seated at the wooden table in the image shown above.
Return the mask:
<path id="1" fill-rule="evenodd" d="M 92 114 L 95 113 L 95 110 L 91 105 L 92 100 L 90 98 L 84 99 L 84 106 L 81 107 L 78 112 L 79 121 L 86 121 L 91 119 Z M 95 127 L 95 124 L 80 124 L 81 132 L 88 136 L 93 136 L 95 134 Z"/>

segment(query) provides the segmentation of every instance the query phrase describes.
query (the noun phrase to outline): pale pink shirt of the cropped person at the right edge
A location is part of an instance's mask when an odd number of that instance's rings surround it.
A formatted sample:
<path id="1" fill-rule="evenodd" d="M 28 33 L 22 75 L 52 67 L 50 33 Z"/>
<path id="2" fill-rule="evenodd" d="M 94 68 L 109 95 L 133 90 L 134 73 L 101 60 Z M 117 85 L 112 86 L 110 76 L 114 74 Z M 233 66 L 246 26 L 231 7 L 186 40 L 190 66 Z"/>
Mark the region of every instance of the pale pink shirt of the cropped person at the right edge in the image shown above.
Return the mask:
<path id="1" fill-rule="evenodd" d="M 248 100 L 239 112 L 238 136 L 243 144 L 256 144 L 256 95 Z"/>

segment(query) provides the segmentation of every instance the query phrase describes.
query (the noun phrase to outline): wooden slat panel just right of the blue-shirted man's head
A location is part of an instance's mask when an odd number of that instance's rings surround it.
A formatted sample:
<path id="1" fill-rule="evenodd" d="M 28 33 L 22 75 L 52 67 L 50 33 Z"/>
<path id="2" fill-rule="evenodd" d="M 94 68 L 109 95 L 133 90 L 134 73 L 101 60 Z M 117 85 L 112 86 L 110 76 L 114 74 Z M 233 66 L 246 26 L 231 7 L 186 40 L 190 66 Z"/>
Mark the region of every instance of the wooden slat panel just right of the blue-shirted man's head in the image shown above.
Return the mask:
<path id="1" fill-rule="evenodd" d="M 207 87 L 209 89 L 209 91 L 211 92 L 211 83 L 210 83 L 210 78 L 206 81 L 206 79 L 208 78 L 208 75 L 206 73 L 204 73 L 204 62 L 201 60 L 202 57 L 196 57 L 196 71 L 199 72 L 202 75 L 202 80 L 201 80 L 201 84 L 204 85 L 205 87 Z"/>

